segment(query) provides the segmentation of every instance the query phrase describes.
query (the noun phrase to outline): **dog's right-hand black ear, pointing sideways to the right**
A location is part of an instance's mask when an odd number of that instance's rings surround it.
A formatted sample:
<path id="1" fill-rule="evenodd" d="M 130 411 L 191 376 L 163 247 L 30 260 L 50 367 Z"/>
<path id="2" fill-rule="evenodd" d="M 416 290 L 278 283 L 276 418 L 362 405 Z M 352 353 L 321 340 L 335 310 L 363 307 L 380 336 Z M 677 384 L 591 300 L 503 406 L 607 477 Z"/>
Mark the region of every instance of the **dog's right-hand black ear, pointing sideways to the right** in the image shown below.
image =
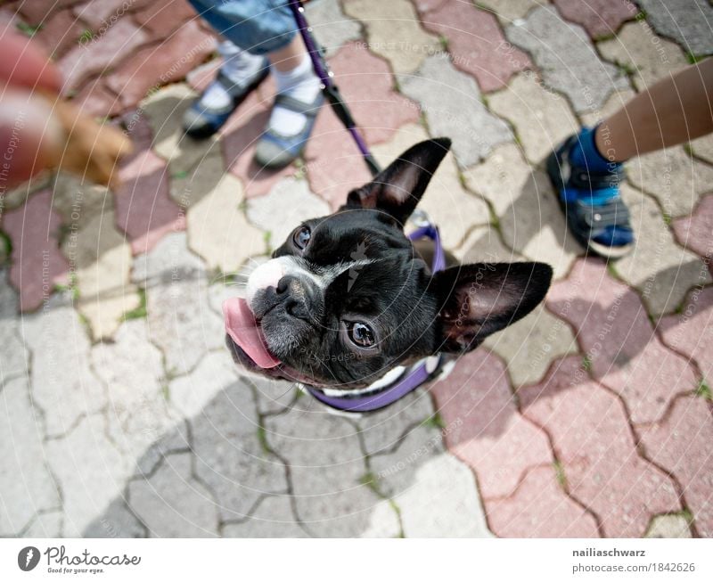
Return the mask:
<path id="1" fill-rule="evenodd" d="M 440 312 L 435 351 L 466 352 L 527 316 L 545 299 L 552 267 L 544 263 L 477 263 L 433 276 Z"/>

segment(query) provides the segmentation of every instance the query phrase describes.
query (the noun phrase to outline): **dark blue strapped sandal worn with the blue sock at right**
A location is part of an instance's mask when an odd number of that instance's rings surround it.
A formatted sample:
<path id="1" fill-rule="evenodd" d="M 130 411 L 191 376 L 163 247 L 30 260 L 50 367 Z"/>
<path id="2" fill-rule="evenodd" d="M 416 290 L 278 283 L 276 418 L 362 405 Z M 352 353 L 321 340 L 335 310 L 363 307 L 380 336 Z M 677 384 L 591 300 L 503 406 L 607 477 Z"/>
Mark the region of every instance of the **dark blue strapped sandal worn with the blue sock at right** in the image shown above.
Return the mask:
<path id="1" fill-rule="evenodd" d="M 557 193 L 570 232 L 586 249 L 604 258 L 621 258 L 635 246 L 629 211 L 617 193 L 597 198 L 597 191 L 619 189 L 623 170 L 593 172 L 572 164 L 571 135 L 547 158 L 547 173 Z M 587 200 L 583 193 L 590 193 Z"/>

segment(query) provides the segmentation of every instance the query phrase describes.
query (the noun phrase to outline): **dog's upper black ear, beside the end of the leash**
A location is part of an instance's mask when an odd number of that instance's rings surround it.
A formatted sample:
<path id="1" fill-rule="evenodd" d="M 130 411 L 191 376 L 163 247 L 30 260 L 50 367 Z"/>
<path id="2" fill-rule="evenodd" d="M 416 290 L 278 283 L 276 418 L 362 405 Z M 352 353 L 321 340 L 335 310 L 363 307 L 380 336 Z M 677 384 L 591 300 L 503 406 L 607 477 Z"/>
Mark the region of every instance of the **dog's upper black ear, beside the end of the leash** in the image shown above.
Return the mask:
<path id="1" fill-rule="evenodd" d="M 383 210 L 404 225 L 450 147 L 447 137 L 416 143 L 372 182 L 352 190 L 344 208 Z"/>

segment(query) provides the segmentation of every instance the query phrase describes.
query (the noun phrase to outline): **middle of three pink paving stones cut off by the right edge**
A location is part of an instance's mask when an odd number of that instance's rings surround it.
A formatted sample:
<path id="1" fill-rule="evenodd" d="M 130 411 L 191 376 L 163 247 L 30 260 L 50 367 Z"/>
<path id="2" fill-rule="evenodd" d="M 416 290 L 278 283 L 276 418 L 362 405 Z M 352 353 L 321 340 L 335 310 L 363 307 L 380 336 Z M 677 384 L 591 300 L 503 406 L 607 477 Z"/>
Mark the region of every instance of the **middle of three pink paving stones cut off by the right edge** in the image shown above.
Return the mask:
<path id="1" fill-rule="evenodd" d="M 664 343 L 692 358 L 713 384 L 713 287 L 691 291 L 681 315 L 664 317 L 659 330 Z"/>

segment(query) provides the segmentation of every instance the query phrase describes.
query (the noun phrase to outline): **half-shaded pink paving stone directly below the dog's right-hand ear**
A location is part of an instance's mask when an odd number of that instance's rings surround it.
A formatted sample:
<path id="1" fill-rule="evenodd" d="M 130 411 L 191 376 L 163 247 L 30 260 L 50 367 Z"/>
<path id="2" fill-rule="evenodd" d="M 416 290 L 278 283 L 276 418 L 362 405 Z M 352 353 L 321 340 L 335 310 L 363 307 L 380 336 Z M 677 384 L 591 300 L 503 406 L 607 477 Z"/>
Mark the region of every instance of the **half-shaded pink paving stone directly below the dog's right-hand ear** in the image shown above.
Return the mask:
<path id="1" fill-rule="evenodd" d="M 447 447 L 478 475 L 483 498 L 509 496 L 529 467 L 553 463 L 545 433 L 517 410 L 503 363 L 484 349 L 431 387 Z"/>

